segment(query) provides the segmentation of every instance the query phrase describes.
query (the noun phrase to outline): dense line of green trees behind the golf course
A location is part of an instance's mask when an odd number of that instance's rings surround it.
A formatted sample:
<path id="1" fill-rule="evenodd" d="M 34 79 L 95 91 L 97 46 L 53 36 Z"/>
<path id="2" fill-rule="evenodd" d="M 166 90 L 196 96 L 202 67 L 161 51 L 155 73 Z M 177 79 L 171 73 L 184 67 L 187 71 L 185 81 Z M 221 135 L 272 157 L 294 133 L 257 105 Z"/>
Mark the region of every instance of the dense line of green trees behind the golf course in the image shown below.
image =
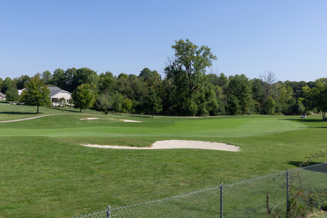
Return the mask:
<path id="1" fill-rule="evenodd" d="M 205 45 L 175 41 L 175 54 L 166 61 L 161 76 L 144 68 L 138 75 L 89 68 L 56 69 L 33 77 L 0 79 L 1 92 L 11 95 L 38 77 L 47 86 L 72 93 L 75 107 L 103 112 L 160 113 L 164 115 L 216 116 L 241 114 L 295 115 L 305 111 L 324 113 L 327 108 L 327 79 L 278 81 L 271 71 L 258 78 L 225 76 L 210 68 L 216 56 Z M 8 96 L 8 94 L 7 94 Z"/>

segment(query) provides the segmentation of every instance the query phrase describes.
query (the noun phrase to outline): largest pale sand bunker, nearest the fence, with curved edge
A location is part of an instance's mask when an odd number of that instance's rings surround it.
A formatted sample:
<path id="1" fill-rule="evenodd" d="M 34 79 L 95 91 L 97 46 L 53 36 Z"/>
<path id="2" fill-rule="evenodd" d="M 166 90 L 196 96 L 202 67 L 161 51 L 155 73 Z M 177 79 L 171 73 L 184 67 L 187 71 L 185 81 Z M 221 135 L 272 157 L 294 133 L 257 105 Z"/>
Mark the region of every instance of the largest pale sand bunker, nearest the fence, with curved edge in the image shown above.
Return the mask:
<path id="1" fill-rule="evenodd" d="M 221 151 L 239 151 L 238 146 L 203 141 L 186 141 L 186 140 L 165 140 L 157 141 L 151 147 L 130 147 L 130 146 L 113 146 L 113 145 L 98 145 L 98 144 L 83 144 L 88 147 L 97 148 L 117 148 L 117 149 L 171 149 L 171 148 L 197 148 L 197 149 L 211 149 Z"/>

